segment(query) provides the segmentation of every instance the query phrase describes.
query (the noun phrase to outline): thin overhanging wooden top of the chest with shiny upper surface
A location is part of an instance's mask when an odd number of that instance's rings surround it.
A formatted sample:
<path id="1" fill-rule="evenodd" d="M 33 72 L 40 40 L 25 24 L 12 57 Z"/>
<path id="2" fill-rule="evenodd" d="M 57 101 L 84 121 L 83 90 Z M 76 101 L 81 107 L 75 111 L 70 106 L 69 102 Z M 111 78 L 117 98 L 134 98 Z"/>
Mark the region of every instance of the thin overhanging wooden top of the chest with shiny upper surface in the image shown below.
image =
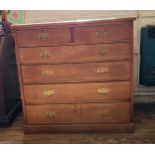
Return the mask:
<path id="1" fill-rule="evenodd" d="M 58 21 L 58 22 L 45 22 L 45 23 L 30 23 L 30 24 L 16 24 L 11 25 L 12 30 L 22 30 L 22 29 L 32 29 L 32 27 L 40 28 L 40 27 L 49 27 L 49 26 L 85 26 L 85 25 L 94 25 L 94 24 L 109 24 L 111 22 L 120 23 L 120 22 L 131 22 L 135 20 L 135 18 L 104 18 L 104 19 L 81 19 L 81 20 L 72 20 L 72 21 Z"/>

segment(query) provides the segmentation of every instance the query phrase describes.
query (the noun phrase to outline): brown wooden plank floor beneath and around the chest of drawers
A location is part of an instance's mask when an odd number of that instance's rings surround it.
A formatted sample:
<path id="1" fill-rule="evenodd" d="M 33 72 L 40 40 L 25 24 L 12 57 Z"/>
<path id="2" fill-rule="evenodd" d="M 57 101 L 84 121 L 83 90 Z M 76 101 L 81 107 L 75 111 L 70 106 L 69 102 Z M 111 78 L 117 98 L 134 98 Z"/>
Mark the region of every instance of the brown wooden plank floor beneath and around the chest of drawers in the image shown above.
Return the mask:
<path id="1" fill-rule="evenodd" d="M 28 134 L 23 132 L 22 113 L 11 127 L 0 128 L 0 143 L 117 144 L 155 143 L 155 103 L 134 107 L 134 133 L 122 134 Z"/>

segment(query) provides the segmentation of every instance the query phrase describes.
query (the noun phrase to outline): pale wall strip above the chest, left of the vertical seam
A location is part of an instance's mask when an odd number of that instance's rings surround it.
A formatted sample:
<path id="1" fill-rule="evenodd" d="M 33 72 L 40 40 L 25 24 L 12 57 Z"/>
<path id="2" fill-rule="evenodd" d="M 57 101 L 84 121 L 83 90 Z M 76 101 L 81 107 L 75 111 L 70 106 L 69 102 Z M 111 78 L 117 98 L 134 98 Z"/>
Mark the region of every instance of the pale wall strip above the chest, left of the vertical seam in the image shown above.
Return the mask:
<path id="1" fill-rule="evenodd" d="M 26 23 L 36 23 L 36 22 L 49 22 L 49 21 L 60 21 L 60 20 L 75 20 L 75 19 L 85 19 L 85 18 L 105 18 L 105 17 L 126 17 L 126 16 L 136 16 L 137 11 L 26 11 L 25 20 Z"/>

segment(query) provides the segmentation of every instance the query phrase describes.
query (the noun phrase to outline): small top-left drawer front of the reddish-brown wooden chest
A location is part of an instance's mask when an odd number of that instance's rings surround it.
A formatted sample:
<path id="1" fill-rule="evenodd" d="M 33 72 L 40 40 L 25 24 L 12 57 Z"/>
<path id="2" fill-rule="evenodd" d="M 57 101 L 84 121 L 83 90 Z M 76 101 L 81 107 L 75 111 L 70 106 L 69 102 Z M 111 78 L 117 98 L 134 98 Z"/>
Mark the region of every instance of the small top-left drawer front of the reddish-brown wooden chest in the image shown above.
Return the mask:
<path id="1" fill-rule="evenodd" d="M 33 29 L 17 31 L 19 47 L 47 46 L 52 44 L 69 43 L 71 41 L 68 28 Z"/>

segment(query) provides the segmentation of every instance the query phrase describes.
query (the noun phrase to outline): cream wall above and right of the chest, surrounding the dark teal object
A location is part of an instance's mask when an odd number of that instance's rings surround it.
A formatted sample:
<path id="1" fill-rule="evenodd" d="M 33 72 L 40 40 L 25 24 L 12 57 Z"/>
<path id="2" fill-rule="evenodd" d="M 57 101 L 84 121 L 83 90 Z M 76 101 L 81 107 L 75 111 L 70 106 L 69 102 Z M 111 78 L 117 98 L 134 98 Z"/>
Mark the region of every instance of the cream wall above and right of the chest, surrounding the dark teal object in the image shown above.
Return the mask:
<path id="1" fill-rule="evenodd" d="M 25 23 L 55 22 L 61 20 L 93 19 L 93 18 L 125 18 L 135 17 L 134 22 L 134 99 L 135 102 L 155 102 L 155 87 L 139 85 L 140 64 L 140 28 L 155 24 L 155 11 L 25 11 Z"/>

